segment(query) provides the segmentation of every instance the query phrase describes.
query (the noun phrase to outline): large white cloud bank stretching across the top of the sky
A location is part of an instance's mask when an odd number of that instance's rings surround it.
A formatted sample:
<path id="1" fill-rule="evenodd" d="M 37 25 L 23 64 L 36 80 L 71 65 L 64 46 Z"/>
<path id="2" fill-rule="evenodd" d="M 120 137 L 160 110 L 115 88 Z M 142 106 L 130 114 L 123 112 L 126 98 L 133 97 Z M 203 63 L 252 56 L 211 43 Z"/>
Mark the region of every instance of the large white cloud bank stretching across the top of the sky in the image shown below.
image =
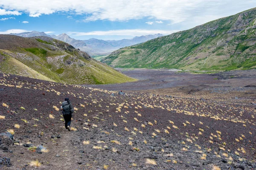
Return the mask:
<path id="1" fill-rule="evenodd" d="M 253 6 L 256 6 L 255 0 L 72 0 L 72 5 L 70 0 L 2 0 L 0 15 L 24 12 L 30 17 L 39 17 L 42 14 L 71 12 L 82 14 L 85 22 L 128 21 L 147 17 L 180 23 L 193 22 L 197 16 L 225 17 Z"/>

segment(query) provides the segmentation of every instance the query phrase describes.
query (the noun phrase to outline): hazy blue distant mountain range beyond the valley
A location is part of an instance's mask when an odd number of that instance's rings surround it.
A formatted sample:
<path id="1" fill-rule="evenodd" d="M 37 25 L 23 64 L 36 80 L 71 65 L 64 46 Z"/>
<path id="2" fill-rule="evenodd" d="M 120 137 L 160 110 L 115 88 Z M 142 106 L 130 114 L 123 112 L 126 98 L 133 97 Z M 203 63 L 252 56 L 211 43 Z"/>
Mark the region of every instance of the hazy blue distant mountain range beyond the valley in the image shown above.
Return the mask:
<path id="1" fill-rule="evenodd" d="M 138 43 L 143 43 L 148 40 L 152 40 L 157 37 L 162 37 L 162 34 L 155 35 L 143 35 L 140 37 L 134 37 L 131 39 L 123 39 L 123 40 L 98 40 L 96 38 L 91 38 L 89 40 L 76 40 L 74 38 L 69 37 L 67 34 L 63 33 L 61 35 L 47 35 L 44 32 L 22 32 L 18 35 L 21 37 L 35 37 L 35 36 L 46 36 L 52 37 L 57 40 L 64 41 L 74 46 L 75 48 L 80 49 L 81 51 L 87 52 L 90 56 L 97 55 L 109 55 L 111 52 L 123 48 L 125 46 L 131 46 Z"/>

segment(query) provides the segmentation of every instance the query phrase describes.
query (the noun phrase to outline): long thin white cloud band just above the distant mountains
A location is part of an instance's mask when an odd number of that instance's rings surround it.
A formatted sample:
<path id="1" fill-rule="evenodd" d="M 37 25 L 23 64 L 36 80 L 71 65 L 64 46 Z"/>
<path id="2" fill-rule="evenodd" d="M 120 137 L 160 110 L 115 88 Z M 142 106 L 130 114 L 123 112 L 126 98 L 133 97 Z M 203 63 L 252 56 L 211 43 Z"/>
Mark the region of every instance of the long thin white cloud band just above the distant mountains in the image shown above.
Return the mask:
<path id="1" fill-rule="evenodd" d="M 142 35 L 154 35 L 163 34 L 169 35 L 180 30 L 160 30 L 160 29 L 120 29 L 109 31 L 92 31 L 92 32 L 67 32 L 70 36 L 84 36 L 84 35 L 122 35 L 122 36 L 142 36 Z"/>

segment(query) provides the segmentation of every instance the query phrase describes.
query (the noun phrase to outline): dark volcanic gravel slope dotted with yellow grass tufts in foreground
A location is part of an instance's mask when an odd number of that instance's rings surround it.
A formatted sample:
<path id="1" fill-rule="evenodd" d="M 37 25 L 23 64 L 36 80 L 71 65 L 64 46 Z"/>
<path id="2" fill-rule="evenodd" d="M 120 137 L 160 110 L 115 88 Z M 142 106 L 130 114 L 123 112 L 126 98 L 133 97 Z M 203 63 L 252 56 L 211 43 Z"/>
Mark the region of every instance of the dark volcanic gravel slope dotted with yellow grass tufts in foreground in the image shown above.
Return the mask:
<path id="1" fill-rule="evenodd" d="M 57 111 L 66 97 L 76 110 L 71 132 Z M 15 132 L 13 140 L 0 135 L 0 158 L 10 158 L 0 168 L 34 170 L 30 162 L 38 159 L 42 170 L 210 170 L 213 164 L 256 170 L 256 101 L 250 97 L 233 103 L 226 97 L 118 95 L 0 74 L 0 133 Z M 26 147 L 40 144 L 48 152 Z"/>

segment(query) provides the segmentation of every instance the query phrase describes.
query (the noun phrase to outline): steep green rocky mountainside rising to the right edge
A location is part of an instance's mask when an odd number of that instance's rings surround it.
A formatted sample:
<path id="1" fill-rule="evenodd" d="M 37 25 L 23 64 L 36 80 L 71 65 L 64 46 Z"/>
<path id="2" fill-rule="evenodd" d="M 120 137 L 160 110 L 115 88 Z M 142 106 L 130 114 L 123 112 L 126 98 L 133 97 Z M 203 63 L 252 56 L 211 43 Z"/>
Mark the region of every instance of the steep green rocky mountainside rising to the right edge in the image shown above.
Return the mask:
<path id="1" fill-rule="evenodd" d="M 256 8 L 112 52 L 115 67 L 232 70 L 256 68 Z"/>

